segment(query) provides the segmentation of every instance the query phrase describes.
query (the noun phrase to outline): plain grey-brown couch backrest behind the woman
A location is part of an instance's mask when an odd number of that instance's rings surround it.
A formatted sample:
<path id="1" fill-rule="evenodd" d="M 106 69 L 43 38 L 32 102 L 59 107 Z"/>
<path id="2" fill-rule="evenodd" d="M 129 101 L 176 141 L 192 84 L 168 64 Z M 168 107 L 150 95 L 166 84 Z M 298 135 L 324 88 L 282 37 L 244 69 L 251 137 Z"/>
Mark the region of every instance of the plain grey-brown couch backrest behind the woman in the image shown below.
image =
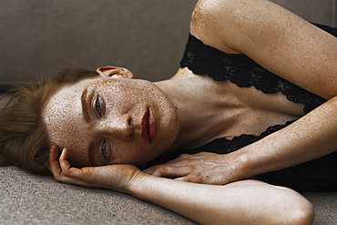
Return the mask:
<path id="1" fill-rule="evenodd" d="M 337 0 L 274 0 L 312 22 L 336 25 Z M 66 67 L 126 66 L 171 77 L 197 0 L 0 0 L 0 87 Z"/>

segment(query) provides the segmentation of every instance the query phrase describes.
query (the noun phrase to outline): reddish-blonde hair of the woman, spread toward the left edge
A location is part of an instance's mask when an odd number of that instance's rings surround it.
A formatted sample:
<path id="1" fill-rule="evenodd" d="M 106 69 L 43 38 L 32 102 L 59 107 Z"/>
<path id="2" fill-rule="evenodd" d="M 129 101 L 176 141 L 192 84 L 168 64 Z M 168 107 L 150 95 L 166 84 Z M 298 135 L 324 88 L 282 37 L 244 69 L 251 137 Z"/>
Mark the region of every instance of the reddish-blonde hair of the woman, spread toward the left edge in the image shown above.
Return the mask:
<path id="1" fill-rule="evenodd" d="M 0 101 L 0 166 L 15 165 L 29 172 L 47 174 L 50 139 L 42 110 L 60 88 L 96 77 L 94 71 L 64 69 L 36 85 L 14 87 Z"/>

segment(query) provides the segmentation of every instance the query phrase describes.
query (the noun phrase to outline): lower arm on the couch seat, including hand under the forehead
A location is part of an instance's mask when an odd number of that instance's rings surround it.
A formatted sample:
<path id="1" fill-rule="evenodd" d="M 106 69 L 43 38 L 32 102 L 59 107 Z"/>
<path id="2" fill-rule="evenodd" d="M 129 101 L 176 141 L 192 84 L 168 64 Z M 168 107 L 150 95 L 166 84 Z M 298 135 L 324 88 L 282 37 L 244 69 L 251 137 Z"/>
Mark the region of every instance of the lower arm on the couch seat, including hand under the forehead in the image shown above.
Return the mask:
<path id="1" fill-rule="evenodd" d="M 115 189 L 173 210 L 201 224 L 311 224 L 311 203 L 291 189 L 246 180 L 215 186 L 162 179 L 131 165 L 71 168 L 68 150 L 57 159 L 51 150 L 49 170 L 58 181 Z M 254 194 L 251 194 L 254 193 Z"/>

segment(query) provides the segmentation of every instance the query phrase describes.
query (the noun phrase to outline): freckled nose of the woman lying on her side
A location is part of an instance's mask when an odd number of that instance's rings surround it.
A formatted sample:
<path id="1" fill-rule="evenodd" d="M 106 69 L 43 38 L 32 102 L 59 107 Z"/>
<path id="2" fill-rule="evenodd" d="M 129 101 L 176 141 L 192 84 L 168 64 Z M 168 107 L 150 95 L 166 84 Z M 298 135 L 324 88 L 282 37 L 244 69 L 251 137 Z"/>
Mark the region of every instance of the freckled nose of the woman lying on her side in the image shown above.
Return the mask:
<path id="1" fill-rule="evenodd" d="M 132 118 L 129 115 L 107 119 L 103 121 L 101 128 L 105 129 L 104 131 L 111 134 L 114 138 L 122 138 L 127 141 L 132 138 Z"/>

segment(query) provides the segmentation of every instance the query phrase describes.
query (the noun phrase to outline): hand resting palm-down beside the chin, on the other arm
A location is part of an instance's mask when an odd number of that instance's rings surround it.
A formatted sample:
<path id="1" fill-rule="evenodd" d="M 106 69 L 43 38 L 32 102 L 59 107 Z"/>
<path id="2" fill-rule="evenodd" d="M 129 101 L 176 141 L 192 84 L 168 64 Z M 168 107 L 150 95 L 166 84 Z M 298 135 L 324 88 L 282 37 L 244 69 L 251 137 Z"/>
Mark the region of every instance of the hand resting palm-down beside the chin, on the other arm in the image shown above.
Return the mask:
<path id="1" fill-rule="evenodd" d="M 194 155 L 182 154 L 165 164 L 143 170 L 153 176 L 175 178 L 181 181 L 204 184 L 227 184 L 243 179 L 237 159 L 230 154 L 200 152 Z"/>

